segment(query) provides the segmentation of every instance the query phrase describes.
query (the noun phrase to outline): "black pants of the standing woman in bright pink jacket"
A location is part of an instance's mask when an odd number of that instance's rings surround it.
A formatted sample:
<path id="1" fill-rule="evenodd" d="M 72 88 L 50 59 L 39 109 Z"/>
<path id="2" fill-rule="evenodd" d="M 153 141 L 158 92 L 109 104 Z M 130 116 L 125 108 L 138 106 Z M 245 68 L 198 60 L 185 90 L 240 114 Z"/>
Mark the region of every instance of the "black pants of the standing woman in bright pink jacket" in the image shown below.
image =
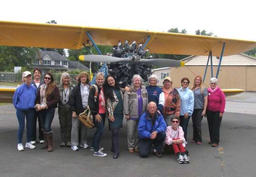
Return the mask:
<path id="1" fill-rule="evenodd" d="M 219 117 L 219 111 L 206 111 L 209 127 L 210 141 L 219 144 L 219 128 L 222 118 Z"/>

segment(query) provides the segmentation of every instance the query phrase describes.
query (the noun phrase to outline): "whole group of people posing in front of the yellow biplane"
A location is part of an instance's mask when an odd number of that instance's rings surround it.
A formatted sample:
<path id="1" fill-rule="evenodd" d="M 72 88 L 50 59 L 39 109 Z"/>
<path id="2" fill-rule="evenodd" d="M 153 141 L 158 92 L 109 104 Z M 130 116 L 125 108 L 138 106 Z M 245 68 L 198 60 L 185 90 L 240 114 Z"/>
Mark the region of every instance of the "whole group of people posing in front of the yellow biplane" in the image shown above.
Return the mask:
<path id="1" fill-rule="evenodd" d="M 192 117 L 193 139 L 191 143 L 202 143 L 201 120 L 207 116 L 210 141 L 213 147 L 219 144 L 219 128 L 225 108 L 225 95 L 217 86 L 217 79 L 210 79 L 210 87 L 204 88 L 202 77 L 196 76 L 194 85 L 188 88 L 190 80 L 181 79 L 181 88 L 172 87 L 170 77 L 165 77 L 163 87 L 157 86 L 158 78 L 151 75 L 149 86 L 144 86 L 140 75 L 134 75 L 130 86 L 120 88 L 112 74 L 106 78 L 97 73 L 96 84 L 89 85 L 89 75 L 81 72 L 75 86 L 68 73 L 62 73 L 60 84 L 54 83 L 51 73 L 45 73 L 40 80 L 41 70 L 32 73 L 25 71 L 23 84 L 14 93 L 13 104 L 18 118 L 18 150 L 24 150 L 23 130 L 27 129 L 25 147 L 34 149 L 36 143 L 37 121 L 39 122 L 39 143 L 48 152 L 53 151 L 53 131 L 51 124 L 58 107 L 61 142 L 60 147 L 71 147 L 73 151 L 80 147 L 89 148 L 87 127 L 78 116 L 86 109 L 92 114 L 96 132 L 90 150 L 94 156 L 105 157 L 100 141 L 104 133 L 105 119 L 112 131 L 111 152 L 113 158 L 119 157 L 119 130 L 123 118 L 127 123 L 128 152 L 139 152 L 140 157 L 151 153 L 162 157 L 162 150 L 168 146 L 174 150 L 179 163 L 189 163 L 185 145 L 187 127 Z M 38 118 L 38 119 L 37 119 Z M 79 142 L 80 139 L 80 142 Z"/>

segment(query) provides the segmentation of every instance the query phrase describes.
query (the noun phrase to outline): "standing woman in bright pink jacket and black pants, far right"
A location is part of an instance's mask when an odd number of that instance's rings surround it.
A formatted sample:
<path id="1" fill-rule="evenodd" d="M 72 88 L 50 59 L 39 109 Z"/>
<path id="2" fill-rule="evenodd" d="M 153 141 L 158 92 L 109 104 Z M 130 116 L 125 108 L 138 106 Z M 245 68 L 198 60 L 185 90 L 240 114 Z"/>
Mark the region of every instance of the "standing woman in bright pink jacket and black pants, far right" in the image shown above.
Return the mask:
<path id="1" fill-rule="evenodd" d="M 208 104 L 206 116 L 210 134 L 209 144 L 212 144 L 213 147 L 219 145 L 219 128 L 226 104 L 225 95 L 217 86 L 217 82 L 218 80 L 215 77 L 211 78 L 210 87 L 207 89 Z"/>

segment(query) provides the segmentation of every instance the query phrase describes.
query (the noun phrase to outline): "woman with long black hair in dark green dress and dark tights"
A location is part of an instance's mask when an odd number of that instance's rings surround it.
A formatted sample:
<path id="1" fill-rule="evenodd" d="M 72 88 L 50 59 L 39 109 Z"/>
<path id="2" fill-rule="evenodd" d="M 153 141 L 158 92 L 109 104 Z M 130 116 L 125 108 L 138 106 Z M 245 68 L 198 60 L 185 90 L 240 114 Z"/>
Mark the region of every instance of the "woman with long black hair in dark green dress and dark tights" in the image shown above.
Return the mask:
<path id="1" fill-rule="evenodd" d="M 112 131 L 113 159 L 119 157 L 119 129 L 123 127 L 123 93 L 114 75 L 108 75 L 104 82 L 104 95 L 107 102 L 108 125 Z"/>

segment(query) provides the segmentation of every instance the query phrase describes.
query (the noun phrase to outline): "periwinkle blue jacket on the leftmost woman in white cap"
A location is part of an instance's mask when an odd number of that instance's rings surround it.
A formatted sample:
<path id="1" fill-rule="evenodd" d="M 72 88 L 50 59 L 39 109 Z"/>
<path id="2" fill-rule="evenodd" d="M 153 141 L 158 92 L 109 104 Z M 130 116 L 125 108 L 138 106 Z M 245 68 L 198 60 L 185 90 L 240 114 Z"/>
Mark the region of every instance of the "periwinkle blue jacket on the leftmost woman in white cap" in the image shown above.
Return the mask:
<path id="1" fill-rule="evenodd" d="M 32 84 L 30 84 L 30 86 L 27 84 L 22 84 L 14 93 L 14 107 L 22 111 L 33 109 L 35 106 L 36 96 L 37 88 L 35 88 Z"/>

